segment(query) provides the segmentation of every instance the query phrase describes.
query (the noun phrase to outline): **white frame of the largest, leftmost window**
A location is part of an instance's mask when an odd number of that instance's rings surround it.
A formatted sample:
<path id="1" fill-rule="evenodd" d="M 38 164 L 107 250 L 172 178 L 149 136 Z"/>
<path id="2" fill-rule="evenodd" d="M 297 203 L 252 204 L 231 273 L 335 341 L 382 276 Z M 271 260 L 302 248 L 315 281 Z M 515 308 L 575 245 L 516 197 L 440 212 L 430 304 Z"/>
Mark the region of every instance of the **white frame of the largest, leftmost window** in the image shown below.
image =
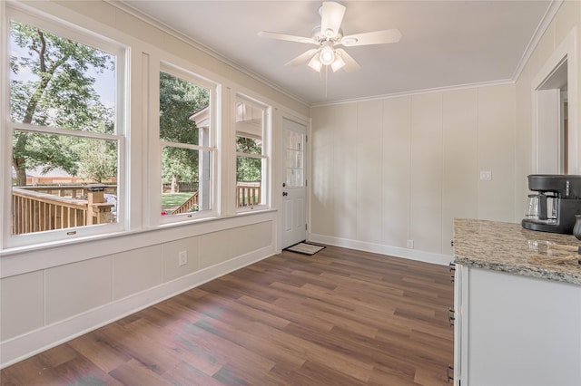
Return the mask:
<path id="1" fill-rule="evenodd" d="M 126 229 L 128 220 L 126 214 L 129 213 L 129 203 L 126 197 L 126 155 L 127 149 L 127 132 L 128 132 L 128 79 L 129 49 L 126 45 L 113 41 L 112 39 L 86 30 L 83 27 L 66 22 L 52 15 L 44 15 L 36 12 L 29 12 L 28 9 L 21 6 L 3 5 L 4 15 L 2 16 L 2 41 L 4 54 L 1 58 L 3 74 L 1 82 L 2 106 L 0 118 L 3 125 L 3 135 L 0 146 L 4 153 L 3 168 L 1 177 L 3 182 L 0 199 L 2 200 L 2 225 L 0 226 L 1 241 L 0 248 L 12 248 L 23 246 L 43 245 L 46 243 L 62 244 L 71 240 L 84 237 L 106 236 L 113 233 L 119 233 Z M 26 124 L 11 121 L 10 117 L 10 100 L 11 100 L 11 82 L 9 69 L 9 46 L 10 46 L 10 28 L 11 22 L 15 20 L 20 23 L 37 27 L 47 33 L 55 34 L 66 39 L 73 40 L 91 46 L 95 49 L 109 53 L 115 58 L 114 69 L 114 132 L 113 134 L 99 133 L 92 131 L 70 130 L 55 126 L 42 126 L 38 124 Z M 45 134 L 64 135 L 67 137 L 96 139 L 96 140 L 113 140 L 117 143 L 117 221 L 114 223 L 87 225 L 83 227 L 68 227 L 54 229 L 42 232 L 30 232 L 21 235 L 11 234 L 11 217 L 12 217 L 12 143 L 15 130 L 24 132 L 36 132 Z"/>

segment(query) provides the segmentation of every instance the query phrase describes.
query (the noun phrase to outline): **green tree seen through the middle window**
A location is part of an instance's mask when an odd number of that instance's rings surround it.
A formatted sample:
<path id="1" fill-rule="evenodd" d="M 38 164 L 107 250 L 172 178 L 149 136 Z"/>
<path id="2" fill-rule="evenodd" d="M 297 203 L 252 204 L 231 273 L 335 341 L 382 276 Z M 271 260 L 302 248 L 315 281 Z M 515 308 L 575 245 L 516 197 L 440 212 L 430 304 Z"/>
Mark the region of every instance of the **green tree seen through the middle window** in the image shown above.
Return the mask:
<path id="1" fill-rule="evenodd" d="M 198 127 L 192 113 L 210 104 L 210 91 L 167 72 L 160 73 L 160 140 L 198 145 Z M 199 182 L 198 151 L 167 146 L 162 150 L 162 180 L 172 183 L 172 193 L 180 180 Z"/>

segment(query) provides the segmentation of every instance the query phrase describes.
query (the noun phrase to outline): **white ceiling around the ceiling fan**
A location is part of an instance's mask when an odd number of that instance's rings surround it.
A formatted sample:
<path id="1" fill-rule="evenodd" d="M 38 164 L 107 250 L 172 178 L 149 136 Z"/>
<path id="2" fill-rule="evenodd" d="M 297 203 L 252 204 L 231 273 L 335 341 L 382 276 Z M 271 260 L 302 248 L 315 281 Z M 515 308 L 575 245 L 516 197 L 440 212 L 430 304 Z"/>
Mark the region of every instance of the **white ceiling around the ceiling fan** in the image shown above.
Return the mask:
<path id="1" fill-rule="evenodd" d="M 309 105 L 513 80 L 543 31 L 551 0 L 339 1 L 344 34 L 398 28 L 399 43 L 346 48 L 359 72 L 284 63 L 310 44 L 258 36 L 310 36 L 320 1 L 143 1 L 124 8 L 164 24 Z"/>

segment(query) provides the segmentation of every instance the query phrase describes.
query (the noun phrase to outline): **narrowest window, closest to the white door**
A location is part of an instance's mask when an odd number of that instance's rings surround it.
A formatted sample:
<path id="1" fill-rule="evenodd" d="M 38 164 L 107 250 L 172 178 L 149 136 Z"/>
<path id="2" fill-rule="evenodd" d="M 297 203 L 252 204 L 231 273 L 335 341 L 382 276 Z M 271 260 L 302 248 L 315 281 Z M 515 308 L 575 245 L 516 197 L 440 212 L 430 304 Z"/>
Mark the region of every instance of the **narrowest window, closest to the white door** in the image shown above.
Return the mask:
<path id="1" fill-rule="evenodd" d="M 268 205 L 266 183 L 268 149 L 267 109 L 238 96 L 236 99 L 236 207 L 239 210 Z"/>

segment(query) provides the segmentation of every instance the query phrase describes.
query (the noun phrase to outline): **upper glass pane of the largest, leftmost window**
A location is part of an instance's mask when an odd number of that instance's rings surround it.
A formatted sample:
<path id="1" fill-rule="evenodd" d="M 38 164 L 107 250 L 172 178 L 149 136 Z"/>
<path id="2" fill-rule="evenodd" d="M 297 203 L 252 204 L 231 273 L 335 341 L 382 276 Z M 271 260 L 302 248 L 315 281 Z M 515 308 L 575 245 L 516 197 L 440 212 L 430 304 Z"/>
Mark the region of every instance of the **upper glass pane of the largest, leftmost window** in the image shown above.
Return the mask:
<path id="1" fill-rule="evenodd" d="M 12 121 L 113 133 L 114 102 L 114 55 L 11 21 Z"/>

